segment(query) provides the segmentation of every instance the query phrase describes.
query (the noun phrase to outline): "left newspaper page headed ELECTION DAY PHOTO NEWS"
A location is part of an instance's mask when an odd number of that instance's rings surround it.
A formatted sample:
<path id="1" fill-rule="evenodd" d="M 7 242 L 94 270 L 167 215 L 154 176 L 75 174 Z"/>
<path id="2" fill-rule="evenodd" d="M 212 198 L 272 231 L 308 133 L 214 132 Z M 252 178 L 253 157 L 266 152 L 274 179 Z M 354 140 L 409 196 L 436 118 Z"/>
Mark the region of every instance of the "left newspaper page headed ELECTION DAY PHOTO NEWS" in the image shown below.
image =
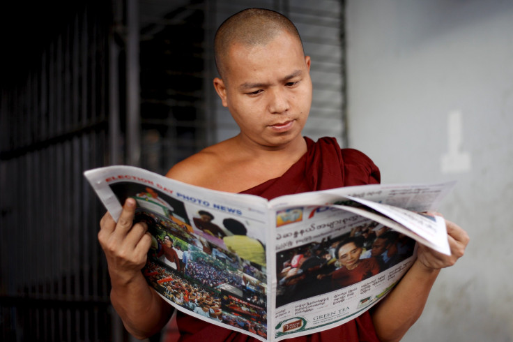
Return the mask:
<path id="1" fill-rule="evenodd" d="M 190 186 L 139 168 L 84 172 L 117 218 L 135 198 L 135 221 L 152 244 L 142 270 L 148 284 L 180 311 L 268 340 L 267 201 Z"/>

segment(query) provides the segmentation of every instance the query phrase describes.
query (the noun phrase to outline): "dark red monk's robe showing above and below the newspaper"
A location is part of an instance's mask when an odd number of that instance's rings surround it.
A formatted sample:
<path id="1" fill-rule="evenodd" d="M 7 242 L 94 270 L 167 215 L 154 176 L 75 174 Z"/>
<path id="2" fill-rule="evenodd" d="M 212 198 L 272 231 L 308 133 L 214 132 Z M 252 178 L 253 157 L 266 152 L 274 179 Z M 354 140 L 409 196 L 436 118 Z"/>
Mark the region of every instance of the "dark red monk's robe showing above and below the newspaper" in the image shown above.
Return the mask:
<path id="1" fill-rule="evenodd" d="M 369 157 L 355 149 L 340 149 L 337 140 L 323 137 L 317 142 L 305 137 L 307 153 L 282 177 L 270 179 L 242 193 L 259 195 L 268 200 L 281 195 L 326 190 L 342 186 L 377 184 L 379 170 Z M 259 340 L 233 330 L 198 320 L 178 311 L 176 322 L 180 341 L 257 342 Z M 369 311 L 344 325 L 324 332 L 295 337 L 293 342 L 379 341 Z"/>

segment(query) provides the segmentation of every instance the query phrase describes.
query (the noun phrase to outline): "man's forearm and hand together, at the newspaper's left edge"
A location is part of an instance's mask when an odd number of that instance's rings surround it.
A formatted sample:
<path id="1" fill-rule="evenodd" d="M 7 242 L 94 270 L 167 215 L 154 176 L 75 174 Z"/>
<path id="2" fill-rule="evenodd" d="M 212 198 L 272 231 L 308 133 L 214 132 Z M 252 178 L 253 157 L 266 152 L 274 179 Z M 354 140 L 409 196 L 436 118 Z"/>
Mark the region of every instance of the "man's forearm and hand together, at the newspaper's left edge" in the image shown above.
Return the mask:
<path id="1" fill-rule="evenodd" d="M 98 240 L 109 266 L 112 305 L 128 332 L 144 339 L 164 327 L 171 316 L 171 306 L 150 288 L 141 273 L 151 235 L 146 223 L 132 225 L 135 207 L 135 200 L 128 198 L 118 223 L 105 214 Z"/>

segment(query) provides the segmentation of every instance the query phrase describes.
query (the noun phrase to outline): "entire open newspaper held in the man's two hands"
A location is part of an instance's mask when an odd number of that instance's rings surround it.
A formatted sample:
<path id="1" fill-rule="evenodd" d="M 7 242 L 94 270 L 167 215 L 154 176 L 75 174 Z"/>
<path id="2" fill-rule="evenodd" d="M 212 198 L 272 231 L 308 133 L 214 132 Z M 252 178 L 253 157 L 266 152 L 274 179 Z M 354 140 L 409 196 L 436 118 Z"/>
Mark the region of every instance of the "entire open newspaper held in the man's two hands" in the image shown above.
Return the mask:
<path id="1" fill-rule="evenodd" d="M 415 241 L 450 254 L 433 210 L 454 183 L 367 185 L 266 200 L 191 186 L 129 166 L 84 172 L 117 220 L 153 243 L 142 270 L 180 311 L 261 341 L 312 334 L 358 317 L 415 260 Z"/>

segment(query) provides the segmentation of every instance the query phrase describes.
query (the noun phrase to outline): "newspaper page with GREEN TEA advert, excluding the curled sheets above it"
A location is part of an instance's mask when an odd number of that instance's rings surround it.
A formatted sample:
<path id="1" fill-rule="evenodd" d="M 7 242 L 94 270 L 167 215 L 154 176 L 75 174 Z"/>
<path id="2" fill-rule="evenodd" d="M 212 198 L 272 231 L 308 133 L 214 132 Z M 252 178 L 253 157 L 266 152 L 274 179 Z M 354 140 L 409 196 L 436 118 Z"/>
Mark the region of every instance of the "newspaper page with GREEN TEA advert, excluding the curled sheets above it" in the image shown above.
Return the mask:
<path id="1" fill-rule="evenodd" d="M 335 207 L 282 209 L 276 225 L 277 338 L 352 320 L 413 262 L 413 239 Z"/>

